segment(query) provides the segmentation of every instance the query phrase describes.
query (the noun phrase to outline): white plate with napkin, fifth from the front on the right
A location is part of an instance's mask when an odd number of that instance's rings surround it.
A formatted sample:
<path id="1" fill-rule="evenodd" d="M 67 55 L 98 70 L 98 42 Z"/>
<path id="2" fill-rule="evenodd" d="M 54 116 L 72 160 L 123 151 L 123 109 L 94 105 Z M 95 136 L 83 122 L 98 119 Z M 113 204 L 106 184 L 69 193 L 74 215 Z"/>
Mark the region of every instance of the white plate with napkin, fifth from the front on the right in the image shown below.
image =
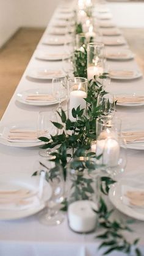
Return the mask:
<path id="1" fill-rule="evenodd" d="M 129 49 L 120 49 L 117 51 L 107 51 L 106 58 L 112 60 L 129 60 L 134 58 L 134 54 Z"/>

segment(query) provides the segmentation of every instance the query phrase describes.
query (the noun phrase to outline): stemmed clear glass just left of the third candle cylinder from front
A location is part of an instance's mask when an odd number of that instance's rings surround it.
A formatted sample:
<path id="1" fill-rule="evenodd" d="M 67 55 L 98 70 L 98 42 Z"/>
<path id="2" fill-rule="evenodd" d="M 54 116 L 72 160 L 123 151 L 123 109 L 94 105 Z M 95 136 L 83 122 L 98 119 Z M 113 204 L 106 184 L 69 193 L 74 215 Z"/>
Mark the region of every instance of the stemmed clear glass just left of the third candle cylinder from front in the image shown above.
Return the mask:
<path id="1" fill-rule="evenodd" d="M 62 111 L 61 103 L 67 98 L 67 78 L 53 78 L 52 79 L 52 94 L 59 102 L 57 111 Z"/>

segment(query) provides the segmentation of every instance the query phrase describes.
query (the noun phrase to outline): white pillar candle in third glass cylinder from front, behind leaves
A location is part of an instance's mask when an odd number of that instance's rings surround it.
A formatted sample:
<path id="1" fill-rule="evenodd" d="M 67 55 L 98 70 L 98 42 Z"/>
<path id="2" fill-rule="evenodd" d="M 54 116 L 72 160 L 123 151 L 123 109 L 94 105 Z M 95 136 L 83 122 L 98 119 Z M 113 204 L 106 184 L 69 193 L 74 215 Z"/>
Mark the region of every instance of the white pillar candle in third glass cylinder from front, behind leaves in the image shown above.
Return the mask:
<path id="1" fill-rule="evenodd" d="M 87 98 L 87 93 L 83 90 L 72 90 L 70 92 L 70 120 L 75 120 L 72 115 L 72 109 L 76 109 L 79 105 L 81 105 L 81 109 L 86 109 L 86 101 L 84 98 Z"/>

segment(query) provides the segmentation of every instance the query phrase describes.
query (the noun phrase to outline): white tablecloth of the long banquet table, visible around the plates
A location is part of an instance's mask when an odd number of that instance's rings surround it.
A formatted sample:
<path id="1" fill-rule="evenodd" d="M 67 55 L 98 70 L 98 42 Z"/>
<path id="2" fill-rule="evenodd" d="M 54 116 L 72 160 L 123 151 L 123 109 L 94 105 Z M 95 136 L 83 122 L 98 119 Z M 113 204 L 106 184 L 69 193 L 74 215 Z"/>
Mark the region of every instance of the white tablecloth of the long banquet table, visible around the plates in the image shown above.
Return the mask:
<path id="1" fill-rule="evenodd" d="M 38 51 L 47 50 L 49 53 L 60 53 L 63 46 L 48 46 L 42 42 L 47 37 L 48 31 L 52 23 L 57 18 L 59 7 L 54 12 L 48 27 L 46 28 L 43 37 L 38 43 L 34 54 L 27 65 L 26 70 L 21 78 L 16 91 L 10 100 L 4 116 L 1 119 L 1 126 L 7 126 L 9 123 L 33 123 L 36 126 L 38 112 L 51 109 L 51 106 L 29 106 L 16 101 L 16 94 L 28 89 L 36 89 L 38 87 L 46 88 L 51 87 L 51 81 L 40 81 L 27 78 L 27 72 L 35 68 L 60 68 L 61 61 L 43 61 L 35 58 Z M 107 46 L 110 48 L 112 46 Z M 115 49 L 126 48 L 128 45 L 113 46 Z M 128 61 L 109 61 L 108 64 L 111 68 L 129 68 L 137 69 L 135 60 Z M 135 79 L 132 81 L 112 81 L 110 90 L 113 93 L 118 92 L 140 92 L 144 95 L 144 79 Z M 52 106 L 55 108 L 56 106 Z M 117 115 L 123 120 L 123 126 L 131 125 L 134 127 L 137 123 L 144 127 L 144 106 L 134 108 L 117 107 Z M 0 172 L 29 172 L 31 175 L 34 172 L 35 161 L 39 159 L 38 147 L 32 148 L 17 148 L 9 147 L 0 144 Z M 131 177 L 131 175 L 139 175 L 142 173 L 144 166 L 143 150 L 128 149 L 128 164 L 123 177 Z M 126 219 L 127 217 L 116 210 L 116 216 Z M 38 222 L 37 214 L 27 218 L 16 219 L 12 221 L 0 221 L 0 255 L 49 255 L 49 256 L 94 256 L 101 255 L 98 252 L 99 240 L 96 240 L 95 233 L 88 235 L 80 235 L 72 232 L 68 228 L 67 218 L 59 226 L 48 227 Z M 135 230 L 133 233 L 128 233 L 127 238 L 131 241 L 135 237 L 140 237 L 140 247 L 144 255 L 144 224 L 141 221 L 135 221 L 132 224 Z M 111 255 L 123 255 L 120 252 L 113 252 Z"/>

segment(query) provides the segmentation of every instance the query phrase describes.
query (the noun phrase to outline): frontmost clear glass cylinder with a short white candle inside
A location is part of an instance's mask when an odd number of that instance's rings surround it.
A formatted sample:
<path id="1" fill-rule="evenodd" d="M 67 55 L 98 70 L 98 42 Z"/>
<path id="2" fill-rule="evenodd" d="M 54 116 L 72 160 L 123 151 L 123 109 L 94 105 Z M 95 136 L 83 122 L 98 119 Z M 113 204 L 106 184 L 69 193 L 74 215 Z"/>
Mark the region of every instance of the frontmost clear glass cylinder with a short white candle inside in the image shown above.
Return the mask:
<path id="1" fill-rule="evenodd" d="M 92 232 L 97 219 L 94 210 L 98 208 L 96 161 L 76 158 L 67 170 L 68 224 L 74 232 Z"/>

